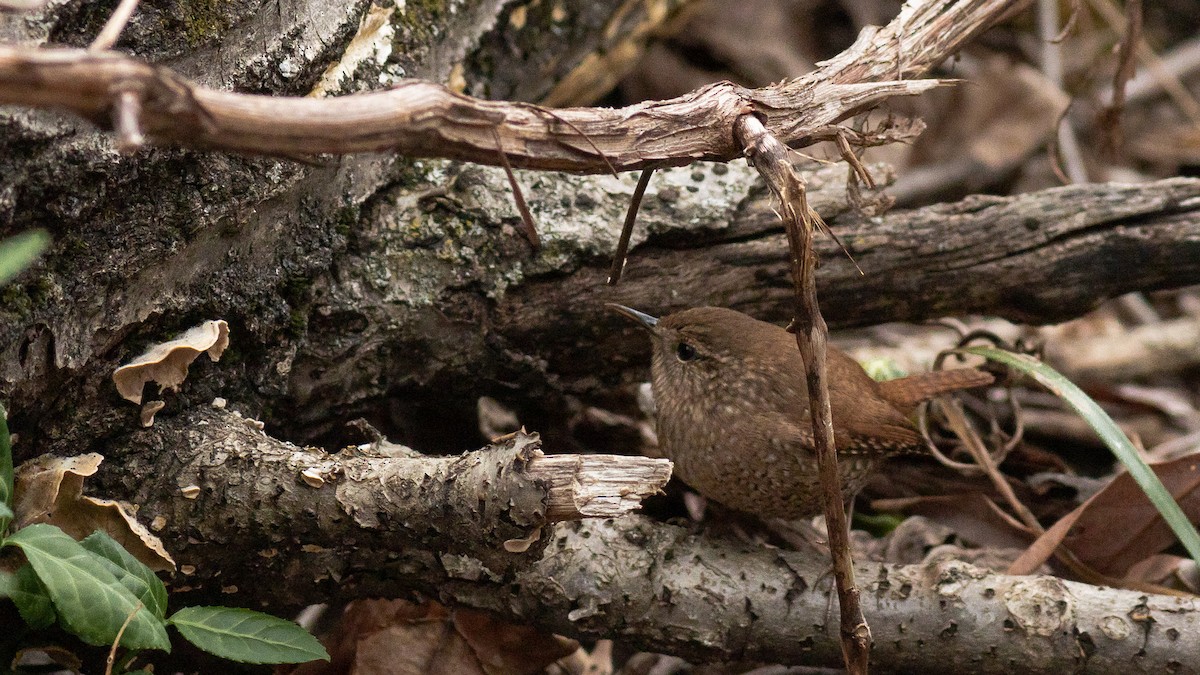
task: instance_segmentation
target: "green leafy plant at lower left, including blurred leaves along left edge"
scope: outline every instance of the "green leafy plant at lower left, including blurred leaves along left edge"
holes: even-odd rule
[[[32,231],[0,243],[0,285],[34,262],[49,243]],[[199,649],[245,663],[329,661],[304,628],[268,614],[228,607],[190,607],[167,616],[167,587],[144,563],[104,532],[82,542],[54,525],[36,524],[10,533],[13,513],[12,442],[0,406],[0,550],[19,549],[25,565],[0,573],[7,597],[31,629],[58,623],[90,645],[114,643],[130,650],[170,651],[167,626]]]

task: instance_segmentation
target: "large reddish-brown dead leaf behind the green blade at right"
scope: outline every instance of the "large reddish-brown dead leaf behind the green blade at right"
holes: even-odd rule
[[[1200,520],[1200,454],[1150,467],[1188,519]],[[1160,552],[1175,540],[1175,533],[1141,488],[1128,473],[1122,473],[1046,530],[1008,573],[1030,574],[1062,544],[1092,569],[1123,577],[1134,563]]]

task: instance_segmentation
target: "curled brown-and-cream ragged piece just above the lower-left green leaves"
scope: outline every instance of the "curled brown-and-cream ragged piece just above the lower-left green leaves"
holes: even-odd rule
[[[76,539],[102,530],[133,557],[155,572],[175,569],[162,540],[138,522],[130,504],[85,497],[84,478],[96,473],[103,455],[41,456],[16,471],[13,512],[17,527],[34,522],[56,525]]]

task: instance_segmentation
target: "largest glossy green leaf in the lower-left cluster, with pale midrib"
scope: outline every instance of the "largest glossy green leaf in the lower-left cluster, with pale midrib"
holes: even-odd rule
[[[30,525],[7,539],[20,546],[37,578],[46,585],[64,627],[91,645],[109,645],[131,614],[121,645],[127,649],[170,651],[162,620],[106,568],[104,558],[88,551],[53,525]],[[134,614],[136,610],[136,614]]]

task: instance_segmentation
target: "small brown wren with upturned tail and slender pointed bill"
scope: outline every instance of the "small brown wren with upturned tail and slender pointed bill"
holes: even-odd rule
[[[721,307],[662,319],[608,307],[649,330],[659,447],[700,494],[763,516],[821,513],[804,362],[796,336]],[[924,447],[908,416],[937,394],[990,384],[976,369],[876,382],[829,346],[829,401],[842,489],[853,495],[883,459]]]

